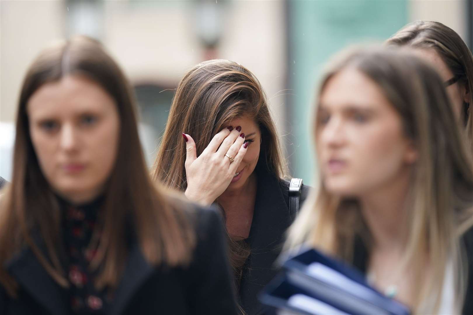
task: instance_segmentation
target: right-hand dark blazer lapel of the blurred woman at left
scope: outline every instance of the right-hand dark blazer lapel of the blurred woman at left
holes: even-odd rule
[[[152,275],[155,268],[146,261],[138,243],[134,242],[128,255],[122,281],[115,292],[111,314],[122,314],[133,294]]]

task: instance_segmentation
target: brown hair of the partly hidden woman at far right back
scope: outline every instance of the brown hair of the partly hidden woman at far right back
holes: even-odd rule
[[[438,53],[454,77],[469,92],[470,102],[463,104],[462,119],[473,150],[473,55],[460,35],[440,22],[415,21],[397,31],[386,44],[432,48]]]

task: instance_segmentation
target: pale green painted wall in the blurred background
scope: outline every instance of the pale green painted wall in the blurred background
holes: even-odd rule
[[[333,53],[353,43],[381,42],[408,21],[406,0],[289,0],[288,132],[291,173],[315,183],[312,122],[315,87]]]

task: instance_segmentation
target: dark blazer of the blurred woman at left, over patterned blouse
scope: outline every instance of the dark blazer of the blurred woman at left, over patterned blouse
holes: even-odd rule
[[[236,314],[219,215],[197,209],[195,226],[197,246],[186,268],[154,267],[145,260],[138,243],[131,243],[111,314]],[[68,314],[67,290],[53,281],[28,247],[5,267],[20,288],[19,298],[11,299],[0,285],[1,315]]]

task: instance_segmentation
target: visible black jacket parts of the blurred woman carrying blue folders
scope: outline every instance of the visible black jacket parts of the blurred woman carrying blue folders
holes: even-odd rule
[[[468,280],[465,301],[462,309],[463,315],[473,315],[473,228],[469,229],[462,237],[462,247],[468,260]],[[355,255],[353,265],[361,272],[367,272],[368,250],[360,238],[355,242]]]

